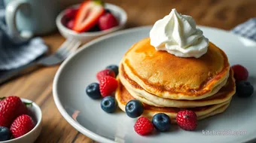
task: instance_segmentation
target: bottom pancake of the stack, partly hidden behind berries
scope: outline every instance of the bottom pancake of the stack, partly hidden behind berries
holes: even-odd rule
[[[118,82],[119,82],[119,86],[115,93],[115,98],[117,99],[119,108],[122,111],[125,111],[126,103],[134,98],[133,98],[133,96],[130,95],[130,93],[126,90],[126,88],[123,87],[123,84],[121,84],[119,80],[118,80]],[[172,119],[172,121],[175,123],[175,117],[177,115],[177,112],[180,110],[188,109],[188,110],[194,111],[197,114],[198,120],[201,120],[203,118],[206,118],[206,117],[209,117],[209,116],[212,116],[214,114],[218,114],[218,113],[224,111],[224,109],[226,109],[228,104],[230,103],[230,100],[228,100],[227,102],[218,104],[218,105],[208,105],[208,106],[196,107],[196,108],[155,107],[155,106],[147,105],[147,104],[143,103],[144,112],[142,115],[145,117],[151,118],[154,116],[154,114],[165,113],[165,114],[169,115],[170,119]],[[225,106],[225,105],[227,105],[227,106]],[[216,111],[216,110],[218,110],[218,111]]]

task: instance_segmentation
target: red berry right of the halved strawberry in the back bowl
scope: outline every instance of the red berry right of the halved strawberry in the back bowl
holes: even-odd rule
[[[118,26],[118,21],[111,13],[105,13],[99,17],[99,28],[102,30],[111,29]]]

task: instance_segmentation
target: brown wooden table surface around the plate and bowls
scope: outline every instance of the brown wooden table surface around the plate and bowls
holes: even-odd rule
[[[127,28],[152,25],[172,8],[203,26],[232,29],[256,17],[255,0],[105,0],[128,14]],[[58,32],[44,36],[53,53],[65,40]],[[36,142],[94,142],[75,130],[53,102],[53,78],[59,66],[40,68],[0,86],[0,96],[20,96],[36,102],[43,112],[43,129]]]

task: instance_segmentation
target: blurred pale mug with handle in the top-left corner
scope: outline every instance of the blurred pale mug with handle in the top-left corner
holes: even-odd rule
[[[56,0],[5,0],[5,20],[12,38],[28,39],[56,29],[62,10]]]

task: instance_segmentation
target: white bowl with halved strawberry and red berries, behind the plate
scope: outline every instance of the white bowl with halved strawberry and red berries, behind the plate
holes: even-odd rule
[[[62,11],[56,18],[56,26],[63,37],[85,43],[123,29],[126,21],[127,15],[122,8],[97,0]]]

